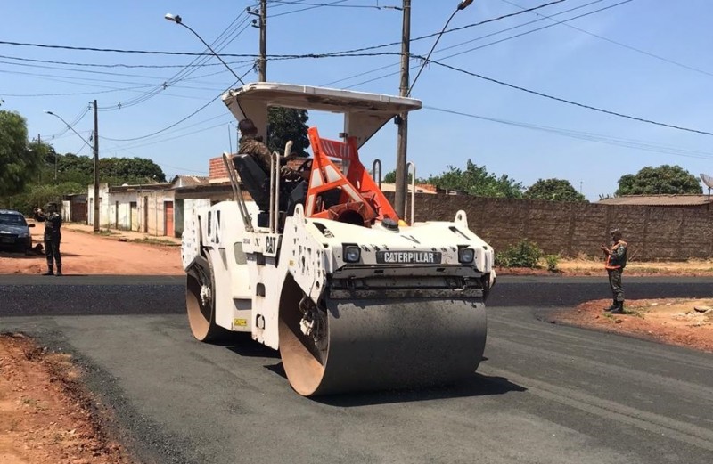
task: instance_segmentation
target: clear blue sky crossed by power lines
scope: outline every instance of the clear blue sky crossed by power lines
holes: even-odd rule
[[[693,132],[713,133],[713,2],[564,0],[522,12],[551,2],[475,0],[455,13],[447,29],[457,30],[443,34],[431,55],[440,64],[426,66],[412,91],[423,102],[409,118],[408,159],[417,176],[464,168],[471,159],[524,187],[566,179],[596,201],[642,167],[713,175],[713,134]],[[213,56],[167,54],[205,46],[164,15],[181,15],[253,82],[259,34],[246,10],[258,3],[4,0],[0,109],[19,112],[29,136],[59,153],[91,155],[78,134],[43,111],[88,140],[96,99],[100,157],[152,159],[168,178],[207,175],[210,158],[235,150],[236,121],[218,96],[236,79]],[[397,95],[402,12],[389,7],[401,4],[268,0],[267,80]],[[412,1],[412,53],[429,53],[436,37],[418,37],[438,33],[457,5]],[[361,52],[368,56],[279,57],[386,44],[396,45]],[[186,68],[192,62],[200,66]],[[411,66],[413,81],[421,61]],[[319,113],[308,124],[332,139],[341,128],[340,119]],[[392,170],[396,140],[396,126],[384,126],[360,150],[365,166],[378,158],[385,173]]]

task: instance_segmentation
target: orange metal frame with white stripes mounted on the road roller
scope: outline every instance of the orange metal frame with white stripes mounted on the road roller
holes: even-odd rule
[[[349,137],[347,142],[323,139],[316,127],[310,127],[307,135],[315,158],[309,175],[305,216],[336,219],[344,211],[351,210],[364,218],[367,227],[376,219],[389,218],[398,222],[389,200],[359,161],[354,137]],[[342,174],[330,158],[348,164],[347,175]],[[326,206],[320,200],[321,195],[333,189],[340,189],[340,200],[336,205]]]

